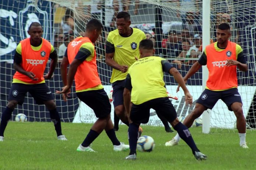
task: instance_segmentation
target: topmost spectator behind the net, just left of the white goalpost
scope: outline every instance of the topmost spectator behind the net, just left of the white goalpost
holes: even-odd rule
[[[184,28],[188,29],[192,36],[194,34],[202,34],[202,27],[194,15],[194,12],[186,12],[186,22],[184,24]]]

